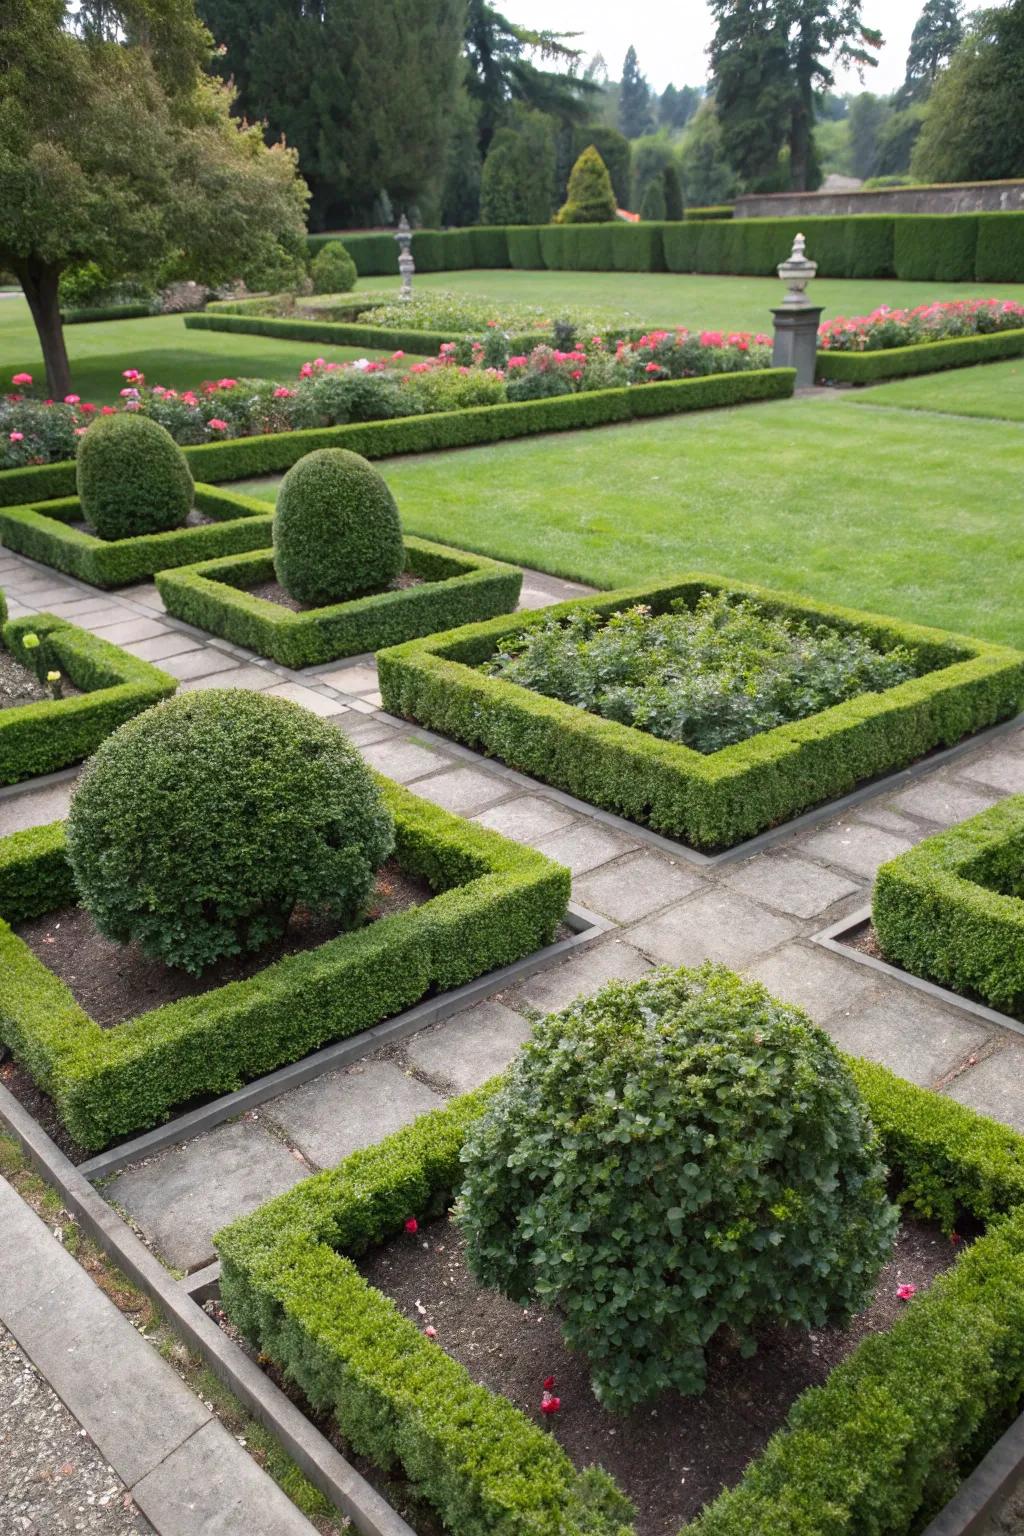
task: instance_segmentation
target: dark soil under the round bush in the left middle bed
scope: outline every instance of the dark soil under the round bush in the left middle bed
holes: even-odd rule
[[[433,895],[425,880],[407,876],[388,859],[370,899],[368,920],[422,906]],[[137,1014],[147,1014],[181,997],[198,997],[229,982],[247,982],[275,960],[315,949],[344,929],[336,919],[298,908],[281,938],[259,949],[227,955],[201,975],[189,975],[147,958],[138,945],[104,938],[81,906],[66,906],[45,917],[18,923],[17,934],[29,949],[71,989],[75,1001],[104,1029]]]

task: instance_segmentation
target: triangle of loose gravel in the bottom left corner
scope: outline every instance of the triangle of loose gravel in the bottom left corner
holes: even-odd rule
[[[3,1536],[152,1536],[86,1432],[0,1324]]]

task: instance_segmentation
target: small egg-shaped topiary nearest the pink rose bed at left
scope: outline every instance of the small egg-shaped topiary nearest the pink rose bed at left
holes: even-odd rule
[[[180,528],[192,510],[192,470],[170,433],[147,416],[100,416],[78,442],[78,499],[101,539]]]

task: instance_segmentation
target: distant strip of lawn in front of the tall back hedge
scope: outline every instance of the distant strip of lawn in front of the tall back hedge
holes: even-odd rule
[[[781,252],[781,261],[788,252]],[[814,252],[811,250],[812,257]],[[772,304],[785,289],[777,278],[682,276],[671,272],[428,272],[416,289],[450,289],[524,304],[600,304],[623,310],[639,326],[689,326],[705,330],[771,330]],[[364,278],[358,289],[396,289],[398,278]],[[356,292],[358,292],[356,289]],[[912,309],[936,298],[1018,298],[1024,284],[897,283],[823,278],[811,298],[823,318],[869,315],[880,304]]]

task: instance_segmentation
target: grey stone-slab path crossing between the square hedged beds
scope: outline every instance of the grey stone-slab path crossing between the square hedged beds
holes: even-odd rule
[[[614,925],[510,992],[114,1175],[107,1198],[177,1269],[207,1264],[210,1235],[226,1221],[499,1071],[525,1038],[531,1009],[559,1008],[659,963],[725,962],[806,1008],[844,1051],[1024,1130],[1021,1035],[811,942],[867,902],[881,862],[1024,791],[1024,730],[749,859],[703,868],[382,716],[372,659],[290,673],[169,619],[152,585],[95,593],[3,550],[0,587],[12,613],[64,614],[158,662],[183,688],[266,688],[309,705],[375,768],[567,863],[574,900]],[[583,590],[530,571],[524,604]],[[61,816],[71,788],[72,779],[55,776],[0,793],[0,834]]]

